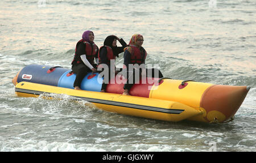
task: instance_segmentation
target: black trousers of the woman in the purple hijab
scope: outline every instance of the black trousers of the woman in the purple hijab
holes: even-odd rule
[[[94,63],[92,65],[94,68],[97,68],[97,65]],[[89,67],[85,66],[84,64],[80,63],[77,65],[72,65],[72,71],[76,74],[76,79],[74,81],[73,87],[80,87],[82,79],[88,74],[88,72],[92,72]]]

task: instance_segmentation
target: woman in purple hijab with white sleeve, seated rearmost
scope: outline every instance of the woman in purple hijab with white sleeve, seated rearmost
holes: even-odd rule
[[[98,46],[94,44],[94,33],[92,31],[85,31],[82,33],[82,39],[76,44],[75,56],[72,61],[72,71],[76,74],[73,87],[81,89],[82,79],[88,72],[96,72]],[[96,58],[96,63],[94,63]]]

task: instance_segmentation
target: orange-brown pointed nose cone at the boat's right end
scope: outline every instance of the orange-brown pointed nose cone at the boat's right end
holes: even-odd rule
[[[207,121],[223,122],[232,118],[240,108],[249,86],[213,85],[201,98],[200,106],[207,112]]]

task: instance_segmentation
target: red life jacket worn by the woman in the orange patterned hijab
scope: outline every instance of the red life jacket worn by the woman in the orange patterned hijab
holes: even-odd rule
[[[134,64],[138,64],[138,65],[141,65],[142,63],[145,62],[145,59],[147,57],[147,52],[146,50],[142,48],[142,52],[141,50],[135,46],[135,45],[130,45],[131,47],[131,63],[134,65]]]

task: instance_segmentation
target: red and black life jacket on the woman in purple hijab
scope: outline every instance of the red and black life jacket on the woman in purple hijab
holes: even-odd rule
[[[86,59],[90,62],[92,65],[94,63],[94,58],[98,50],[98,46],[96,44],[90,44],[90,42],[84,41],[84,40],[79,40],[76,44],[76,49],[80,44],[85,44],[85,53],[86,53]],[[75,57],[72,61],[72,65],[75,63],[83,63],[80,55],[76,54],[75,50]]]

